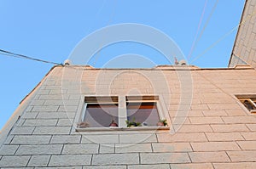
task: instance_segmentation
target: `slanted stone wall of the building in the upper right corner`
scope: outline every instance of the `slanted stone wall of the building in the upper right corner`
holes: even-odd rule
[[[252,65],[256,68],[256,1],[247,0],[230,57],[229,67]]]

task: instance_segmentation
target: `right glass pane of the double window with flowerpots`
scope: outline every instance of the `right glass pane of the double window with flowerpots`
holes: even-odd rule
[[[160,120],[155,103],[128,103],[127,119],[155,127]]]

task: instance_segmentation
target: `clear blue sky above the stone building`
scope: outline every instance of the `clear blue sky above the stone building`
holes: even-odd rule
[[[239,24],[243,5],[244,0],[219,0],[218,3],[215,0],[0,0],[0,48],[61,63],[91,32],[107,25],[137,23],[165,32],[185,56],[189,55],[198,32],[198,42],[191,57],[187,58],[189,64],[227,67],[237,30],[228,33]],[[209,48],[221,37],[224,37],[222,41]],[[102,55],[108,55],[111,59],[117,54],[130,53],[157,55],[152,48],[124,42],[105,48],[97,56],[96,62],[91,61],[90,64],[101,67],[104,65]],[[154,62],[166,64],[164,59],[159,58]],[[41,81],[52,65],[3,55],[0,55],[0,63],[2,128],[20,101]]]

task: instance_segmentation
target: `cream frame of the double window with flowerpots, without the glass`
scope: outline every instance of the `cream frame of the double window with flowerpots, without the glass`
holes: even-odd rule
[[[86,97],[91,97],[91,98],[98,98],[99,96],[85,96]],[[100,97],[105,97],[105,96],[100,96]],[[107,96],[108,98],[110,96]],[[116,97],[116,96],[113,96]],[[104,100],[104,99],[103,99]],[[170,126],[170,121],[165,117],[163,114],[163,109],[160,106],[160,100],[158,96],[118,96],[118,101],[117,102],[109,102],[109,101],[99,101],[99,102],[86,102],[84,99],[84,104],[82,108],[82,112],[80,113],[80,118],[79,122],[84,121],[85,117],[85,112],[88,104],[118,104],[118,115],[119,115],[119,127],[75,127],[75,131],[77,132],[93,132],[93,131],[123,131],[123,130],[169,130],[170,127],[127,127],[125,121],[127,120],[127,108],[126,108],[126,103],[155,103],[156,104],[156,109],[158,111],[158,115],[160,117],[160,120],[166,119],[167,124]]]

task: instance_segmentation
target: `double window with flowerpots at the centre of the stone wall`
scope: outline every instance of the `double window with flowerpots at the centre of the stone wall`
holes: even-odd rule
[[[165,119],[158,103],[156,96],[85,97],[77,129],[158,127]]]

